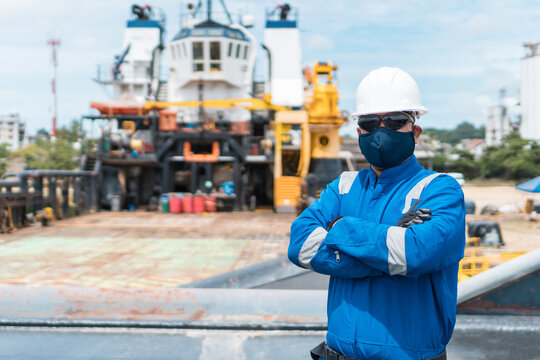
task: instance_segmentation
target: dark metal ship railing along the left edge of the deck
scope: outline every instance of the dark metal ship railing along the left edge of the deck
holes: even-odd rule
[[[95,212],[98,191],[98,171],[26,170],[6,174],[0,180],[0,231],[28,225],[47,207],[55,219]]]

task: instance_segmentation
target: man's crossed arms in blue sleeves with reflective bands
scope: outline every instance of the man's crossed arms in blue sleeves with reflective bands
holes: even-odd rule
[[[289,259],[298,266],[342,278],[401,275],[416,277],[458,262],[465,243],[465,210],[461,188],[440,176],[424,190],[422,208],[431,219],[408,227],[338,217],[338,180],[291,226]]]

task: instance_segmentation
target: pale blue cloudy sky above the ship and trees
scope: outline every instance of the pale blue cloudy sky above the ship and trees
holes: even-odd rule
[[[195,2],[195,1],[194,1]],[[251,13],[262,41],[264,11],[276,1],[225,0],[233,14]],[[90,112],[108,93],[92,79],[98,64],[121,52],[133,0],[0,0],[0,114],[19,113],[29,133],[50,128],[50,48],[59,38],[57,126]],[[148,0],[167,15],[166,39],[180,28],[188,1]],[[485,124],[499,90],[519,99],[524,42],[539,42],[539,1],[291,0],[298,8],[303,63],[339,66],[341,109],[354,111],[360,80],[381,66],[397,66],[417,81],[428,114],[424,127]],[[219,1],[214,8],[221,10]],[[258,56],[264,51],[259,46]],[[164,58],[167,59],[167,54]],[[264,61],[257,62],[262,77]],[[168,74],[162,63],[162,77]]]

